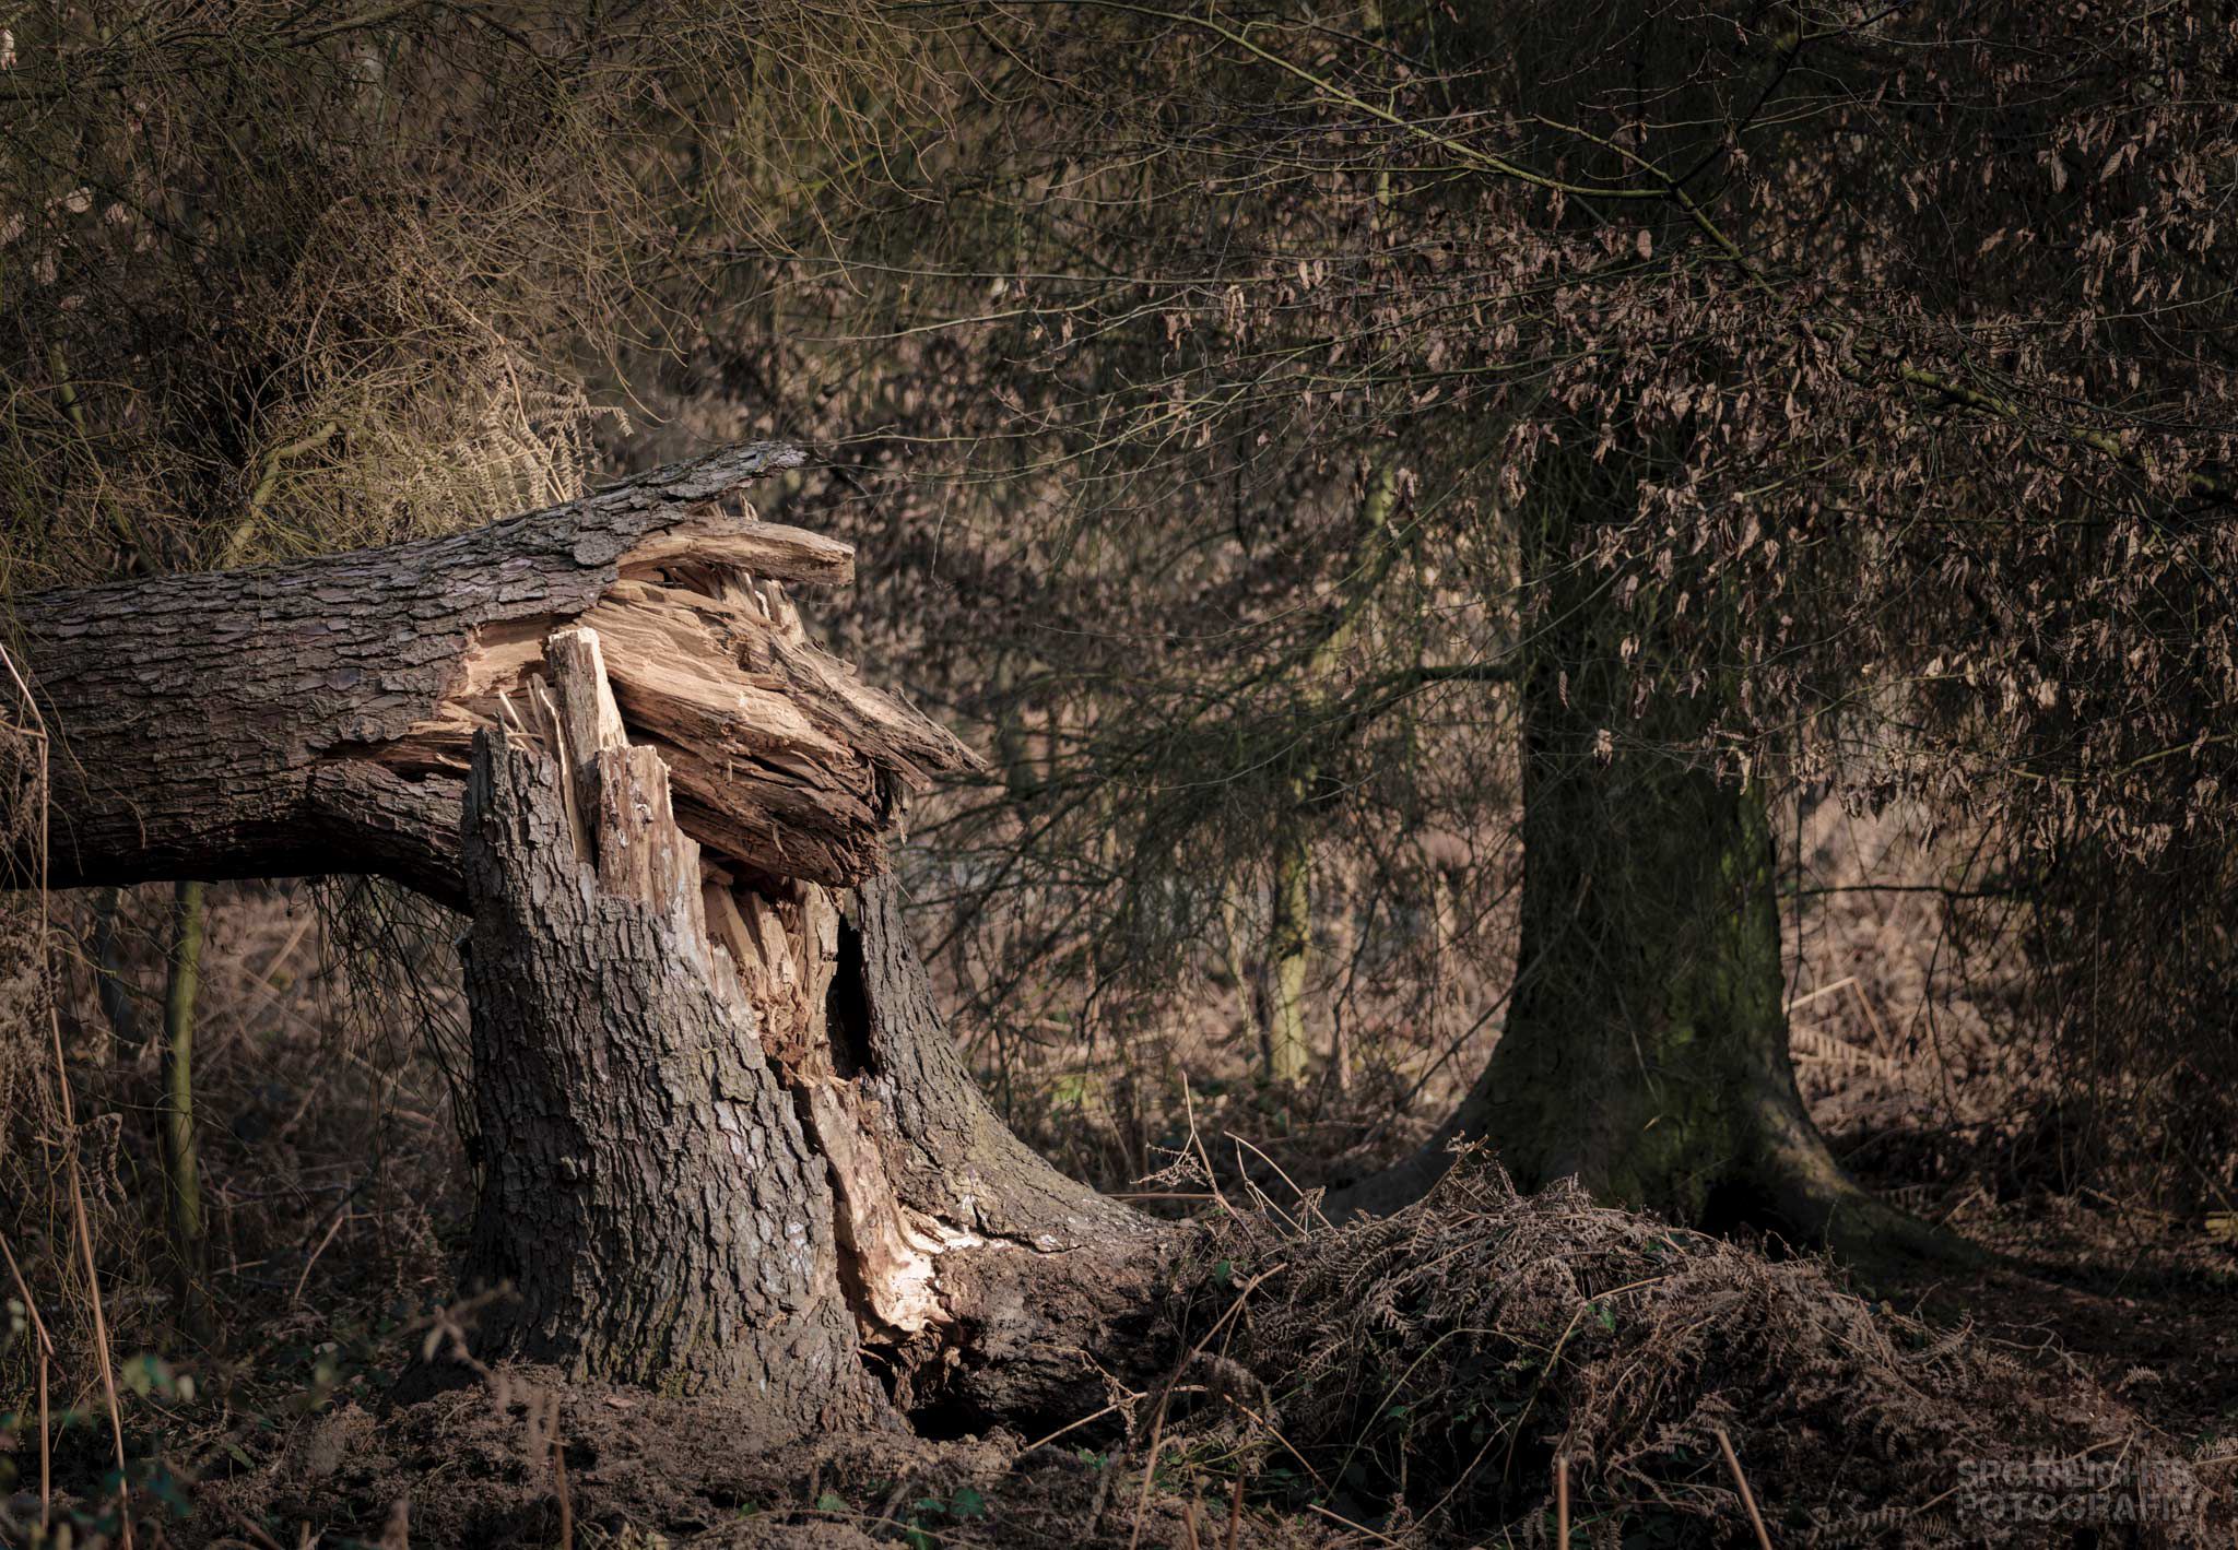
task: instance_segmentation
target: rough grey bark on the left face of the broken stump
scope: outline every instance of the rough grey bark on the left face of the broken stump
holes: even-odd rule
[[[477,747],[466,881],[486,1163],[461,1279],[515,1288],[483,1349],[743,1391],[781,1431],[871,1418],[821,1159],[674,895],[606,886],[560,763],[506,731]]]

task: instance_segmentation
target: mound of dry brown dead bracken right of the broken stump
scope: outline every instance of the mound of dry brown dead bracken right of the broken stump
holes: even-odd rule
[[[1238,1293],[1209,1351],[1264,1393],[1256,1416],[1204,1407],[1186,1445],[1278,1436],[1338,1510],[1385,1521],[1397,1499],[1383,1532],[1529,1541],[1558,1458],[1596,1546],[1732,1543],[1743,1478],[1781,1546],[2043,1546],[2090,1525],[2193,1546],[2229,1512],[2229,1461],[2195,1467],[2088,1380],[1873,1306],[1826,1264],[1571,1188],[1526,1199],[1491,1165],[1397,1217],[1233,1215],[1215,1241]]]

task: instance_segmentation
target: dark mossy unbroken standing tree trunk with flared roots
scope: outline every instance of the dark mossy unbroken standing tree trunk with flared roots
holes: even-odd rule
[[[1336,1206],[1392,1210],[1435,1183],[1457,1138],[1484,1138],[1524,1190],[1576,1176],[1611,1203],[1768,1223],[1855,1259],[1947,1255],[1842,1172],[1797,1094],[1764,792],[1701,752],[1721,684],[1656,680],[1703,655],[1685,631],[1717,631],[1714,582],[1696,584],[1710,602],[1692,620],[1658,588],[1620,608],[1578,537],[1591,501],[1629,492],[1609,472],[1580,483],[1542,494],[1526,526],[1535,617],[1506,1029],[1437,1136]]]

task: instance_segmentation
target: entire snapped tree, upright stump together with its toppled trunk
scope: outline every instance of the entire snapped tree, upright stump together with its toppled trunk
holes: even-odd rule
[[[792,461],[20,602],[49,881],[372,870],[472,915],[479,1355],[750,1398],[772,1436],[1070,1418],[1085,1351],[1144,1346],[1168,1237],[947,1038],[880,875],[969,756],[808,644],[779,582],[850,550],[725,510]]]

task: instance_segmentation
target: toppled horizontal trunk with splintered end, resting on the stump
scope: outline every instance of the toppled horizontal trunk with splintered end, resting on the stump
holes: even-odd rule
[[[18,599],[54,736],[49,881],[354,870],[459,904],[470,738],[591,613],[687,830],[745,868],[875,872],[897,792],[962,749],[772,642],[772,582],[853,575],[844,544],[727,510],[794,463],[734,447],[457,537]]]

